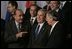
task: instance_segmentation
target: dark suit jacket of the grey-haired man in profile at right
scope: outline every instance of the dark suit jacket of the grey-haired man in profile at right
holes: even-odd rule
[[[58,22],[48,38],[47,48],[62,48],[64,42],[62,25]]]

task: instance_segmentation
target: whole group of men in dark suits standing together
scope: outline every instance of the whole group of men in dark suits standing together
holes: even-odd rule
[[[8,2],[6,19],[1,19],[1,47],[70,48],[71,2],[46,1],[43,8],[30,2],[25,13],[16,1]]]

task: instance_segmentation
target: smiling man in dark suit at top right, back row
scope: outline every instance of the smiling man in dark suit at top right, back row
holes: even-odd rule
[[[57,17],[60,21],[62,19],[62,16],[60,16],[61,15],[61,9],[59,8],[60,7],[60,1],[49,1],[48,6],[50,7],[50,9],[48,11],[55,10],[57,12]]]

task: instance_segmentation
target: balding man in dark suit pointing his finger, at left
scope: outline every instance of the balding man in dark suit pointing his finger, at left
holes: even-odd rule
[[[12,20],[5,26],[5,42],[8,48],[25,48],[28,44],[29,26],[23,21],[23,12],[17,9]]]

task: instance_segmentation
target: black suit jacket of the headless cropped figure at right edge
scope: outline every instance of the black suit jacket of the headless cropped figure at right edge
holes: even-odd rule
[[[66,2],[61,10],[61,14],[64,17],[62,23],[66,32],[71,33],[71,2]]]

